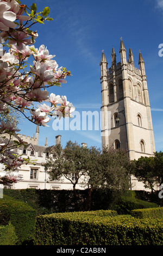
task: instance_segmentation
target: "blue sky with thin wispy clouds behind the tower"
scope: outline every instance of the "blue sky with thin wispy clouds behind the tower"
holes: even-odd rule
[[[32,5],[28,0],[23,4]],[[163,44],[163,0],[36,0],[37,10],[48,6],[53,21],[37,25],[39,34],[35,47],[44,44],[50,54],[55,54],[59,66],[71,71],[72,76],[62,87],[54,87],[50,93],[66,95],[76,111],[100,111],[101,83],[100,60],[104,50],[111,65],[111,50],[115,48],[120,62],[120,38],[128,51],[134,54],[139,68],[139,50],[145,60],[149,99],[151,103],[156,151],[162,150],[163,135],[163,57],[159,57],[159,45]],[[66,142],[77,141],[101,147],[101,131],[56,131],[53,119],[49,127],[40,127],[39,144],[55,144],[55,136]],[[75,126],[75,124],[74,124]],[[19,125],[21,134],[33,136],[36,126],[27,121]]]

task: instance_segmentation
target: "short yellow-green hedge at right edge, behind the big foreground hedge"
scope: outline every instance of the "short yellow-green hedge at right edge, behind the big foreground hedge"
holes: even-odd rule
[[[163,207],[137,209],[131,211],[131,216],[135,218],[161,218],[163,219]]]

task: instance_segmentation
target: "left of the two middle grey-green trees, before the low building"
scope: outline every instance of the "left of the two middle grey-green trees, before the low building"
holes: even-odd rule
[[[55,145],[49,152],[45,164],[49,178],[62,180],[64,177],[71,182],[73,190],[76,191],[79,179],[87,176],[87,152],[87,148],[80,147],[77,142],[68,141],[64,149],[60,144]]]

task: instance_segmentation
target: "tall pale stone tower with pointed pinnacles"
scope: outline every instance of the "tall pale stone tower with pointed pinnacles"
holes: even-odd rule
[[[109,147],[122,148],[128,152],[130,160],[141,156],[153,156],[155,143],[142,54],[139,53],[139,69],[137,69],[131,48],[127,60],[126,48],[121,40],[120,57],[121,62],[116,63],[116,53],[112,48],[111,66],[108,69],[105,54],[102,53],[101,112],[102,123],[105,124],[102,128],[102,147],[109,145]],[[108,126],[106,126],[107,122],[110,122]],[[110,127],[108,133],[105,127]]]

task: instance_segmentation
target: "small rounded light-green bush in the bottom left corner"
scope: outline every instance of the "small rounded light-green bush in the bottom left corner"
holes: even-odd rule
[[[17,235],[15,227],[10,222],[8,225],[0,226],[0,245],[16,245]]]

